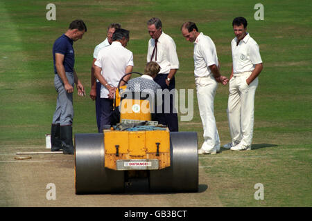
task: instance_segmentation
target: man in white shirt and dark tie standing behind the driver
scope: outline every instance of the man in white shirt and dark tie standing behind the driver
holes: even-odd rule
[[[148,41],[147,62],[155,61],[161,68],[154,81],[162,87],[162,90],[168,89],[171,91],[175,89],[175,73],[179,69],[175,42],[162,31],[162,21],[160,19],[152,18],[148,20],[147,26],[151,37]],[[166,90],[164,90],[164,93],[166,93]],[[157,120],[159,124],[167,125],[170,131],[178,131],[173,94],[170,94],[170,99],[165,99],[167,96],[163,95],[162,113],[157,113]],[[169,105],[165,104],[165,102],[169,102]],[[168,106],[169,108],[167,108]]]

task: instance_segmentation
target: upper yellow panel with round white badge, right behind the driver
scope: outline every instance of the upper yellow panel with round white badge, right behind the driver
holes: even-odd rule
[[[148,100],[123,99],[121,102],[121,119],[151,120]]]

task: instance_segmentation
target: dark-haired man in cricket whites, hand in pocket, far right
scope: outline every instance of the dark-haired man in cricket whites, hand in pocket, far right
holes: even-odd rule
[[[246,19],[236,17],[232,26],[236,37],[231,42],[233,64],[227,104],[232,142],[223,147],[243,151],[252,146],[254,95],[263,65],[257,42],[246,32]]]

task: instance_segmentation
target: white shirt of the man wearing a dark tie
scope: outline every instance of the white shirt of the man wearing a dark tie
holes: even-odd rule
[[[155,39],[148,41],[147,61],[150,62],[155,47]],[[155,61],[155,55],[153,60]],[[179,69],[179,59],[177,59],[177,50],[175,41],[162,32],[157,41],[157,64],[160,66],[159,74],[168,74],[170,69]]]

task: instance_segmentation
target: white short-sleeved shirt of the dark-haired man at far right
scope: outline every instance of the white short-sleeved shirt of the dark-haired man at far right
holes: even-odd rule
[[[236,44],[237,38],[235,37],[231,42],[234,75],[252,71],[256,64],[262,63],[259,46],[248,33],[239,41],[239,45],[236,46]]]

